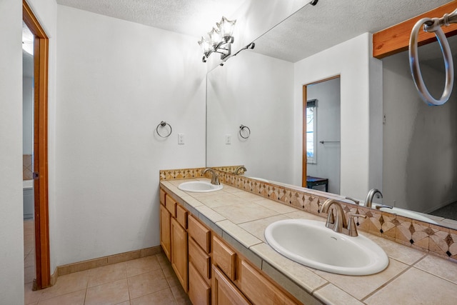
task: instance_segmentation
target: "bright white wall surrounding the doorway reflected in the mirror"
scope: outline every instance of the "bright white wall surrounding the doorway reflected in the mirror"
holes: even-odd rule
[[[363,199],[369,189],[371,168],[370,105],[382,104],[382,95],[370,91],[380,83],[381,74],[371,74],[369,67],[378,66],[371,57],[371,34],[362,34],[342,44],[298,61],[295,64],[295,169],[301,169],[302,158],[302,86],[330,76],[341,75],[341,194]],[[381,141],[379,141],[381,143]],[[379,176],[379,174],[378,174]],[[295,184],[301,181],[301,171],[295,172]]]

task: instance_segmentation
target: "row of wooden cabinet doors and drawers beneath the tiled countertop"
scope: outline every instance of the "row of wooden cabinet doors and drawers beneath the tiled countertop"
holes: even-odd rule
[[[299,303],[162,189],[160,201],[161,246],[192,304]]]

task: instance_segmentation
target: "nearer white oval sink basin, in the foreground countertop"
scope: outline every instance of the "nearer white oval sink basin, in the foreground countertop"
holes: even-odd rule
[[[266,227],[265,238],[288,259],[335,274],[376,274],[388,266],[386,252],[373,241],[336,233],[321,221],[276,221]]]

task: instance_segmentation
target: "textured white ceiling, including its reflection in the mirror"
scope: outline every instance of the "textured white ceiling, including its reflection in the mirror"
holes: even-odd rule
[[[245,1],[261,0],[56,0],[58,4],[181,34],[200,36]],[[268,0],[265,5],[268,5]],[[310,0],[311,1],[311,0]],[[449,0],[319,0],[256,40],[256,50],[296,62],[365,32],[376,32]],[[273,14],[273,11],[272,11]],[[435,16],[432,16],[435,17]]]

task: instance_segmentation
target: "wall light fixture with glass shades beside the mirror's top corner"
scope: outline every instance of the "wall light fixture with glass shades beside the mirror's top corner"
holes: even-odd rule
[[[221,22],[216,22],[216,28],[213,28],[209,33],[209,40],[206,40],[203,36],[199,45],[204,53],[203,62],[212,53],[221,54],[221,59],[226,59],[231,54],[231,44],[233,44],[233,27],[235,26],[236,20],[230,21],[226,17],[222,16]]]

